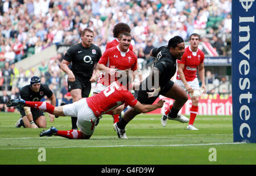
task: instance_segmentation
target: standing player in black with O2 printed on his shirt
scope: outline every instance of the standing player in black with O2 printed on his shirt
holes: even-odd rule
[[[93,70],[102,54],[101,49],[92,43],[93,37],[93,31],[85,28],[81,33],[81,43],[72,45],[60,64],[60,68],[68,74],[68,91],[73,102],[89,97],[91,83],[96,81]],[[72,66],[69,69],[68,65],[71,62]],[[71,120],[72,129],[77,129],[77,118],[71,117]]]

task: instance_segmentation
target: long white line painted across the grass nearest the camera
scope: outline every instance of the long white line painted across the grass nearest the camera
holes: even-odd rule
[[[202,145],[233,145],[246,143],[209,143],[209,144],[172,144],[172,145],[106,145],[106,146],[50,146],[46,149],[64,149],[64,148],[110,148],[110,147],[125,147],[125,146],[202,146]],[[18,149],[38,149],[38,147],[28,148],[0,148],[0,150],[18,150]]]

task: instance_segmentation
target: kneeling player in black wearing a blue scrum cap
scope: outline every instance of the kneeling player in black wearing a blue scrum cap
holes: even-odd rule
[[[49,89],[47,85],[40,83],[39,77],[32,77],[30,85],[22,87],[20,90],[20,98],[38,102],[44,96],[47,96],[51,100],[52,106],[56,106],[56,97]],[[34,108],[28,107],[18,107],[22,118],[16,123],[16,127],[21,125],[25,128],[46,128],[46,116],[44,116],[43,111],[36,110]],[[50,115],[51,121],[54,120],[54,116]]]

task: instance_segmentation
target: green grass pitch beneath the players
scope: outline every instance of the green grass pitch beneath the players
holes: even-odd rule
[[[43,129],[15,128],[16,113],[0,113],[0,165],[254,165],[256,144],[233,143],[232,116],[197,116],[199,131],[160,115],[139,115],[127,125],[128,140],[118,139],[113,118],[104,116],[90,140],[39,137]],[[71,129],[71,118],[60,117],[47,128]],[[38,161],[39,148],[46,161]],[[217,161],[209,161],[210,148]]]

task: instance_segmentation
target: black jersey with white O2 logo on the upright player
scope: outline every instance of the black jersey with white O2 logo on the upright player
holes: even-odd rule
[[[94,44],[85,48],[81,43],[72,45],[65,53],[64,60],[72,62],[71,70],[75,76],[90,79],[94,65],[101,58],[101,49]]]

